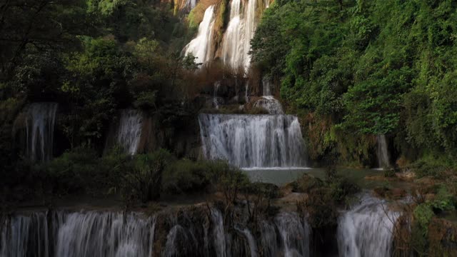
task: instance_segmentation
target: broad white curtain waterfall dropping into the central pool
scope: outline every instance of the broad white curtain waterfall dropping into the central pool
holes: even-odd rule
[[[306,165],[296,116],[200,114],[199,124],[207,159],[225,159],[241,168]]]

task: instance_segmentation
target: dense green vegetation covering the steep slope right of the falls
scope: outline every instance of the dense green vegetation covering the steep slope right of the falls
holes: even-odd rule
[[[253,60],[302,113],[310,153],[367,165],[373,135],[403,161],[452,166],[457,150],[456,1],[275,1]],[[309,124],[309,126],[308,126]]]

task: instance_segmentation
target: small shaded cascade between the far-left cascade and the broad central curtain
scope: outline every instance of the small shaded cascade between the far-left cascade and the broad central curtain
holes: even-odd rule
[[[143,115],[141,111],[126,109],[121,111],[119,128],[116,133],[116,142],[124,148],[126,153],[135,154],[141,139]]]

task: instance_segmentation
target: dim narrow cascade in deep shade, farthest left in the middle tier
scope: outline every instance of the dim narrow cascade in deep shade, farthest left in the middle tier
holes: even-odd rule
[[[49,161],[54,148],[56,103],[33,103],[26,107],[26,156],[31,161]]]

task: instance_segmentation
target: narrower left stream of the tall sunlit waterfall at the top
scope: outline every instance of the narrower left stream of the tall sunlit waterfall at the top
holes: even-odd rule
[[[186,56],[193,54],[196,57],[197,63],[205,63],[211,61],[211,45],[213,39],[213,26],[214,26],[214,6],[209,6],[206,9],[203,21],[199,25],[199,33],[195,39],[184,47]]]

